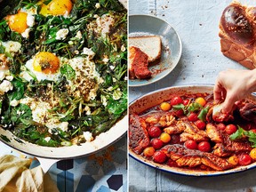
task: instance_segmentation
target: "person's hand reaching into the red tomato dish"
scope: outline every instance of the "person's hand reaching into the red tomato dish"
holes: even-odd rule
[[[232,111],[237,100],[243,100],[256,90],[256,69],[221,71],[213,88],[215,101],[224,100],[222,113]]]

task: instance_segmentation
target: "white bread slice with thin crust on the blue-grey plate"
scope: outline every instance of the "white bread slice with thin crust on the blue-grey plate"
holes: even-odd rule
[[[162,42],[160,36],[132,36],[129,37],[129,46],[140,48],[148,55],[148,62],[161,58]]]

